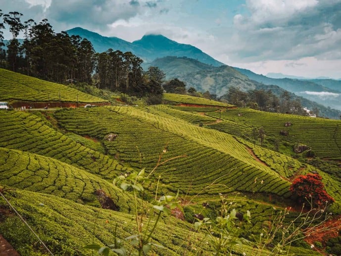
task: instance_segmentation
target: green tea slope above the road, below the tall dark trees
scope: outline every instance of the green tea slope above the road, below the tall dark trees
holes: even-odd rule
[[[65,85],[51,83],[0,68],[0,101],[107,102]]]

